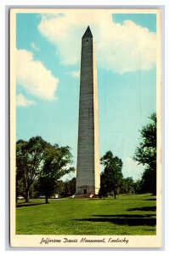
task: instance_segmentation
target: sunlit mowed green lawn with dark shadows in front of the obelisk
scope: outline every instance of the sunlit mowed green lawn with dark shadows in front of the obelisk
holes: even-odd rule
[[[18,235],[156,235],[156,197],[19,201]]]

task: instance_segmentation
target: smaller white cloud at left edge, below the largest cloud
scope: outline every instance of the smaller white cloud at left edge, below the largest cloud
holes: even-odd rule
[[[43,66],[41,61],[34,60],[26,49],[16,50],[16,79],[28,93],[45,100],[54,100],[59,79]]]

